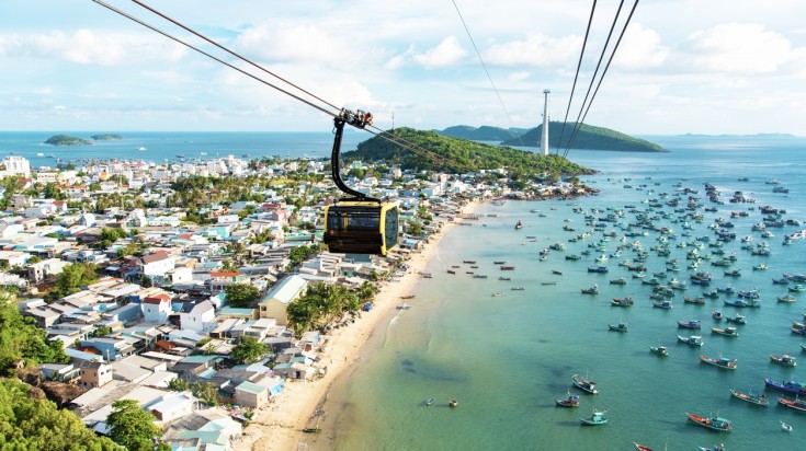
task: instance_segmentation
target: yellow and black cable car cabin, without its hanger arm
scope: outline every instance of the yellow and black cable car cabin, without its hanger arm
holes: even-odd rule
[[[343,254],[386,253],[397,245],[397,204],[340,201],[325,208],[325,244]]]

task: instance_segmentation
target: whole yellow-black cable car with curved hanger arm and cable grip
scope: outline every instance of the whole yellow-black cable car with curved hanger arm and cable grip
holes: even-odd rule
[[[323,242],[329,252],[342,254],[386,253],[397,245],[399,209],[397,203],[384,203],[356,192],[344,184],[339,173],[339,152],[344,125],[364,128],[372,125],[372,114],[342,109],[333,117],[333,151],[331,172],[333,183],[350,197],[339,199],[325,208]]]

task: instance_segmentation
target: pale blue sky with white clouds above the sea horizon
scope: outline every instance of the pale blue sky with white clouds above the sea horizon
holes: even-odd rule
[[[639,2],[594,97],[634,0],[608,47],[620,2],[595,2],[581,63],[592,0],[145,0],[280,79],[105,1],[286,93],[92,0],[0,0],[0,130],[330,131],[341,107],[532,128],[549,90],[550,120],[590,92],[584,123],[629,135],[806,136],[803,0]]]

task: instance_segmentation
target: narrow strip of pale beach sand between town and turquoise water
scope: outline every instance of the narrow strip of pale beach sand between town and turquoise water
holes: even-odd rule
[[[468,203],[462,208],[463,213],[473,213],[478,203]],[[336,329],[322,336],[321,358],[327,365],[327,373],[310,382],[286,382],[283,393],[275,396],[266,407],[256,410],[253,420],[243,430],[234,449],[253,451],[296,450],[305,436],[303,429],[316,427],[318,410],[327,400],[333,382],[344,370],[354,368],[360,360],[362,345],[382,324],[394,316],[397,305],[402,303],[401,297],[417,291],[420,273],[423,271],[436,252],[439,241],[456,226],[456,221],[446,222],[440,232],[428,243],[424,250],[411,254],[407,262],[406,275],[399,281],[385,282],[376,298],[375,307],[370,312],[361,312],[361,316],[347,327]]]

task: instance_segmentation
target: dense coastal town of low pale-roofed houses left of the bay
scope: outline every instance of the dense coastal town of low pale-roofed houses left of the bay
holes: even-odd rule
[[[406,298],[446,227],[472,224],[485,199],[584,193],[570,183],[513,190],[506,169],[451,175],[355,161],[351,186],[397,203],[401,228],[387,255],[345,255],[321,244],[322,211],[338,200],[326,161],[0,164],[4,304],[64,351],[3,371],[101,436],[116,402],[135,400],[159,431],[150,439],[172,450],[245,449],[259,437],[272,449],[271,426],[303,432],[327,390],[304,386],[352,363],[333,343],[348,334],[360,346],[366,317]],[[295,303],[311,292],[349,302],[306,317]]]

